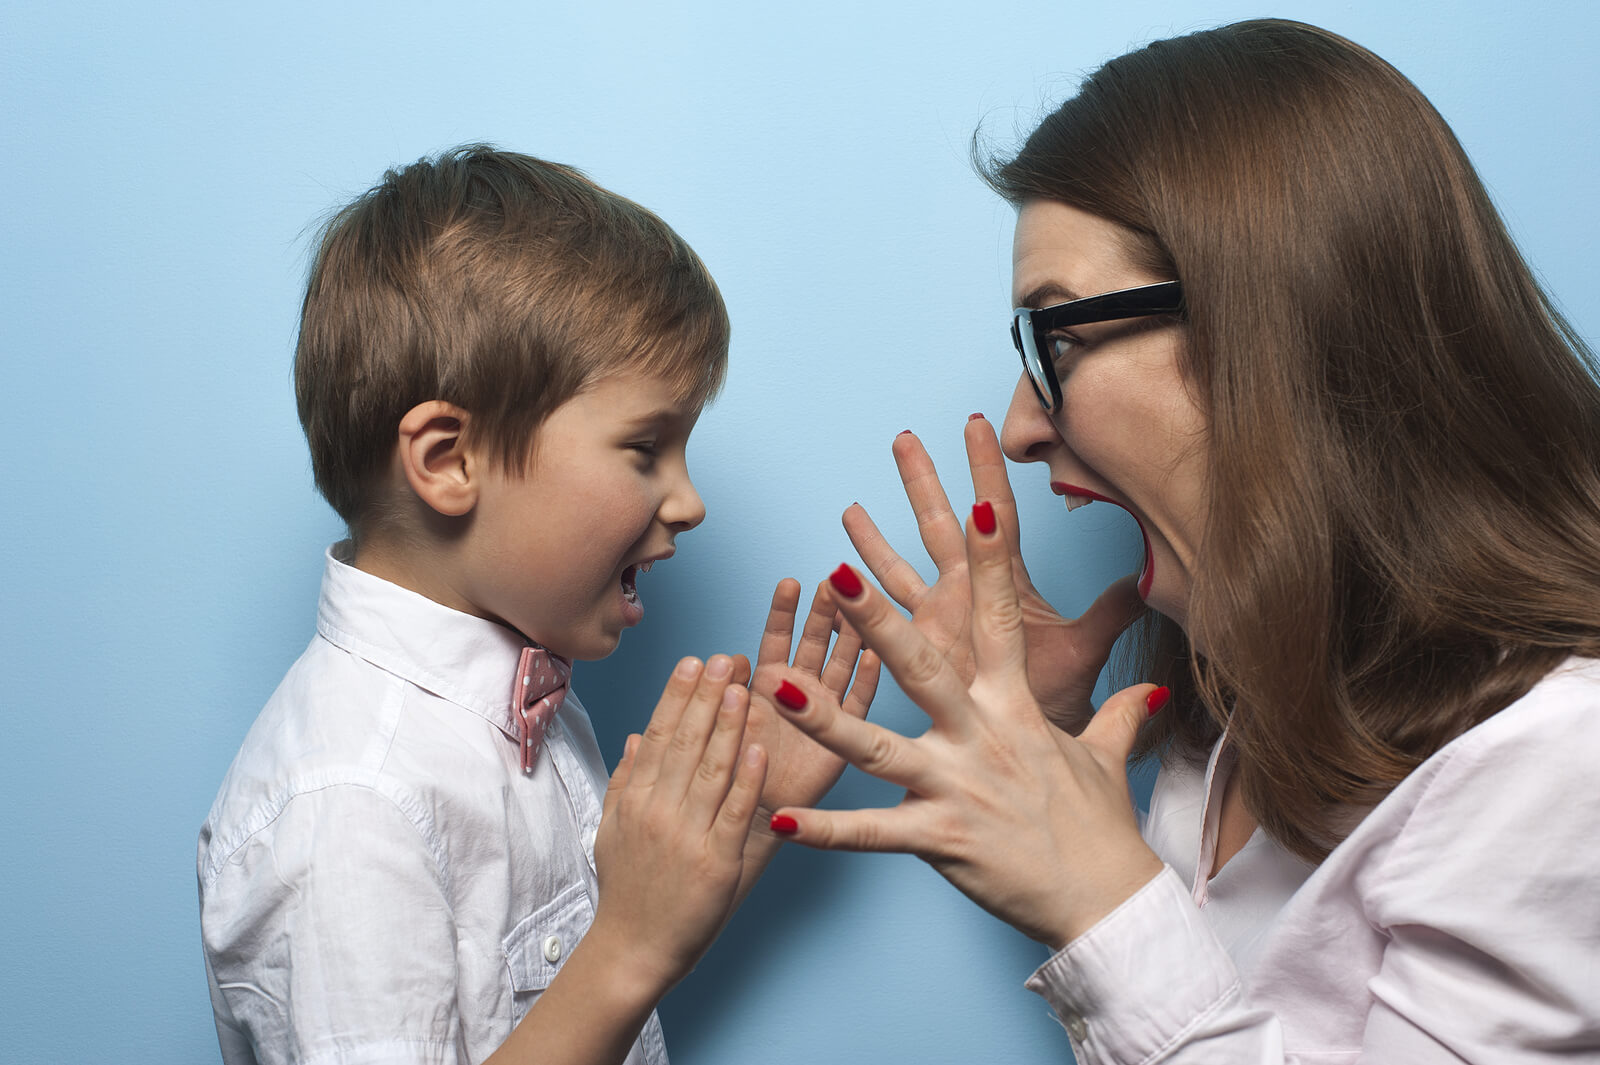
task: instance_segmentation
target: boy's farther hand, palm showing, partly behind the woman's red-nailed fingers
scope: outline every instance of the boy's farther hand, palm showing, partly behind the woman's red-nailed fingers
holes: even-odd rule
[[[779,580],[773,592],[771,611],[766,614],[762,644],[755,652],[746,737],[766,752],[768,771],[754,828],[755,838],[744,856],[741,897],[778,849],[778,840],[768,827],[771,812],[779,806],[813,806],[845,771],[842,758],[797,729],[773,707],[766,694],[757,694],[771,692],[778,686],[778,672],[790,664],[789,652],[798,606],[800,582],[787,577]],[[878,656],[861,649],[861,636],[842,620],[826,582],[818,585],[816,595],[811,596],[811,612],[806,614],[800,630],[800,644],[794,648],[794,668],[834,692],[845,713],[856,718],[867,716],[867,707],[872,705],[872,696],[878,689]]]

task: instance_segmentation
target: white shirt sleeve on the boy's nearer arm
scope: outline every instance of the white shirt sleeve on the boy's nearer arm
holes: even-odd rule
[[[306,792],[202,884],[206,959],[261,1065],[456,1065],[456,927],[418,825],[370,787]]]

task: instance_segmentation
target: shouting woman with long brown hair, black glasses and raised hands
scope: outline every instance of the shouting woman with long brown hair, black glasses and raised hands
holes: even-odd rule
[[[774,830],[918,854],[1050,945],[1027,985],[1080,1062],[1600,1060],[1600,387],[1448,126],[1350,42],[1242,22],[1112,61],[987,178],[1005,454],[1146,561],[1059,619],[987,422],[965,531],[902,437],[939,580],[851,510],[912,620],[834,590],[931,728],[790,676],[907,798]],[[1134,596],[1158,686],[1074,739]],[[1130,752],[1163,760],[1142,836]]]

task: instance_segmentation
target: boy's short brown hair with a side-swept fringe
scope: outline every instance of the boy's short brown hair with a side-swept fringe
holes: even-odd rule
[[[360,536],[400,419],[443,400],[510,472],[557,406],[648,368],[704,403],[728,312],[659,217],[579,171],[474,144],[390,170],[323,227],[294,397],[317,488]]]

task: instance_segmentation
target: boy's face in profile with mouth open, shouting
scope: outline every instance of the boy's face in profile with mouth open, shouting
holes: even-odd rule
[[[478,612],[574,659],[616,649],[645,616],[640,566],[706,517],[685,454],[698,419],[662,379],[624,373],[555,408],[523,475],[488,464],[466,574]]]

